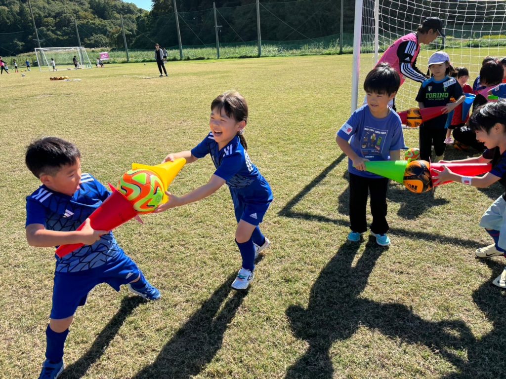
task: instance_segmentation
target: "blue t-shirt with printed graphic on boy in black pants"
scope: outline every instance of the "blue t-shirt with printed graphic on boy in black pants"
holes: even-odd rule
[[[339,129],[338,136],[349,140],[353,151],[359,157],[367,158],[369,161],[388,161],[391,151],[404,148],[399,115],[390,109],[387,117],[376,118],[371,114],[367,104],[353,112],[348,121]],[[348,171],[368,178],[382,177],[357,170],[353,167],[351,159],[348,159]]]

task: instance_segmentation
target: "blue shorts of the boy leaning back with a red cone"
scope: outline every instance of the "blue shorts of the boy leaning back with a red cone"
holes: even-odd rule
[[[100,283],[107,283],[116,291],[121,285],[137,279],[141,271],[135,262],[124,253],[109,262],[79,272],[55,272],[53,308],[51,318],[62,319],[72,316],[77,307],[86,304],[90,291]]]

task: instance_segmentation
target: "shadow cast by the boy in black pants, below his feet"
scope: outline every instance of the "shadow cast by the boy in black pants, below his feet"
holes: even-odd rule
[[[362,325],[406,343],[424,344],[454,366],[463,367],[465,362],[452,350],[461,350],[474,341],[464,322],[426,321],[403,304],[377,303],[359,297],[385,248],[369,238],[365,251],[352,267],[358,249],[359,244],[341,246],[316,279],[307,309],[290,306],[286,310],[294,335],[309,344],[306,353],[288,368],[286,378],[330,379],[332,344],[351,338]]]

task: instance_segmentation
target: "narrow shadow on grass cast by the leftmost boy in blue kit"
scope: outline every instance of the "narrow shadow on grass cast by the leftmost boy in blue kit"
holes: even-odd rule
[[[84,376],[88,369],[100,359],[102,354],[104,354],[105,349],[116,336],[126,318],[128,318],[139,305],[146,302],[147,300],[144,300],[140,296],[124,297],[123,300],[121,300],[121,307],[114,317],[111,318],[109,323],[102,329],[90,350],[70,366],[66,367],[63,378],[70,379]]]

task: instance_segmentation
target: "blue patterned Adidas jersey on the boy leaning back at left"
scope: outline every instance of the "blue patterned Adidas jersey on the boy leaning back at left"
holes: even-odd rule
[[[26,198],[26,226],[42,224],[48,230],[76,230],[109,196],[92,175],[82,174],[79,189],[72,196],[41,185]],[[56,257],[56,271],[78,272],[103,265],[122,254],[112,232],[93,245],[83,246],[63,258]]]

